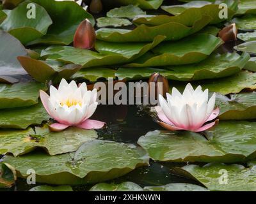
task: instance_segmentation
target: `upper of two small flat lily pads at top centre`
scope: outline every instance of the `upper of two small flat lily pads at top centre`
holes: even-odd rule
[[[128,6],[121,6],[120,8],[114,8],[107,13],[109,18],[134,18],[138,15],[146,15],[147,13],[141,10],[138,6],[132,4]]]

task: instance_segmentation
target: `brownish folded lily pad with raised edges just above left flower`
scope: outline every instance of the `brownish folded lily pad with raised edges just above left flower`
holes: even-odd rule
[[[18,57],[22,67],[38,82],[60,82],[62,78],[70,78],[81,66],[64,64],[58,61],[39,61],[30,57]]]

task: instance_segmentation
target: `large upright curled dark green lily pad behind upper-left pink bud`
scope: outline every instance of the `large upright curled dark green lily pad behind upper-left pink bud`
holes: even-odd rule
[[[77,26],[88,18],[94,25],[90,13],[79,6],[75,1],[32,0],[44,7],[52,19],[52,25],[45,36],[32,41],[29,45],[38,43],[69,45],[72,43]]]

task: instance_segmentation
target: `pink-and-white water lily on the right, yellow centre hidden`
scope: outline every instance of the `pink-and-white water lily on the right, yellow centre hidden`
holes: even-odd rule
[[[202,87],[198,86],[194,90],[188,84],[183,94],[173,87],[172,94],[166,94],[167,100],[159,95],[159,106],[156,106],[160,119],[158,123],[172,131],[201,132],[211,128],[218,122],[214,119],[218,117],[220,108],[214,109],[216,94],[212,94],[210,99],[208,94],[208,89],[202,91]]]

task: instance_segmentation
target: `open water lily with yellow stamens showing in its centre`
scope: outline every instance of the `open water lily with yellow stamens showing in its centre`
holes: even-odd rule
[[[90,120],[97,108],[97,90],[88,91],[85,83],[67,83],[62,79],[58,89],[51,85],[50,96],[40,90],[40,98],[45,110],[57,122],[51,124],[52,131],[61,131],[69,126],[83,129],[99,129],[104,122]]]

